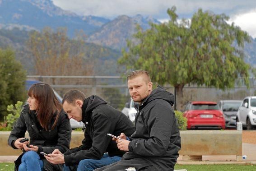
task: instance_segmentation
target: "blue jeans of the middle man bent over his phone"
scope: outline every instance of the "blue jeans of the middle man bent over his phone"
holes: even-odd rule
[[[97,168],[110,165],[114,162],[121,160],[121,157],[113,156],[109,157],[108,153],[105,153],[99,160],[96,159],[84,159],[78,164],[77,171],[93,171]],[[63,171],[70,171],[70,168],[64,165]]]

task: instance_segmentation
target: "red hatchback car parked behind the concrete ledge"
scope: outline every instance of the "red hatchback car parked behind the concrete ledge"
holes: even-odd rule
[[[190,102],[183,114],[187,129],[225,129],[225,119],[216,102]]]

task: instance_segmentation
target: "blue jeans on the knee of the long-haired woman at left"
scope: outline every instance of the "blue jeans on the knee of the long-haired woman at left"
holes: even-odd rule
[[[34,151],[28,151],[21,157],[19,171],[44,171],[43,161]]]

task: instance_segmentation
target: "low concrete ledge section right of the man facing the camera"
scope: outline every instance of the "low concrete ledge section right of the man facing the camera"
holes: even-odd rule
[[[183,156],[236,155],[242,156],[242,131],[189,130],[181,131]]]

